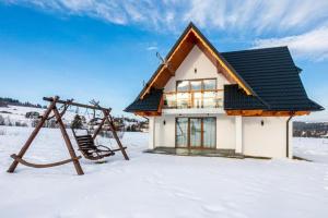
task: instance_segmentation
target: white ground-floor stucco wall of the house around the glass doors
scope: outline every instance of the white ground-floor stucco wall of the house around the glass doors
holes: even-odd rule
[[[155,147],[175,147],[175,118],[178,116],[162,116],[154,119]],[[189,116],[184,116],[189,117]],[[195,117],[195,116],[190,116]],[[198,114],[197,117],[206,117]],[[213,117],[213,116],[210,116]],[[218,114],[216,118],[216,148],[236,148],[235,117]],[[164,125],[165,120],[165,125]],[[261,125],[263,120],[263,125]],[[242,154],[257,157],[285,157],[286,149],[286,120],[277,117],[243,117],[243,148]],[[151,133],[150,133],[151,134]],[[290,144],[292,156],[292,144]]]

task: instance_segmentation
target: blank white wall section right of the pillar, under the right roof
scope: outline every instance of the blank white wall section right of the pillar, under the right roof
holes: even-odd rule
[[[243,117],[244,155],[284,158],[286,120],[286,117]]]

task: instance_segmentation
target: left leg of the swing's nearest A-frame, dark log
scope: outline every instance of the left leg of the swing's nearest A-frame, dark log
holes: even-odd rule
[[[35,136],[37,135],[37,133],[39,132],[39,130],[43,128],[43,125],[45,124],[47,118],[49,117],[51,110],[55,108],[57,100],[59,99],[58,96],[56,96],[55,98],[52,98],[51,104],[49,105],[48,109],[45,111],[42,120],[38,122],[38,124],[36,125],[36,128],[34,129],[34,131],[32,132],[32,134],[30,135],[30,137],[27,138],[26,143],[24,144],[24,146],[21,148],[20,153],[16,155],[19,158],[22,158],[26,150],[28,149],[30,145],[32,144],[32,142],[34,141]],[[11,166],[8,169],[8,172],[14,172],[16,167],[19,165],[17,160],[14,160]]]

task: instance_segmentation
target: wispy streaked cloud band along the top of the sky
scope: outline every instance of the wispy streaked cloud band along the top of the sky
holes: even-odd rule
[[[176,29],[194,21],[210,29],[297,32],[327,19],[327,0],[0,0],[116,24]]]

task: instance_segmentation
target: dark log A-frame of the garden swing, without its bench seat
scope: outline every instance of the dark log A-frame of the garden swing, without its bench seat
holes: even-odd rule
[[[101,132],[101,130],[103,129],[103,125],[105,124],[105,122],[108,122],[109,129],[113,133],[114,138],[117,142],[117,145],[119,146],[119,148],[117,150],[120,150],[121,154],[124,155],[126,160],[129,160],[129,157],[126,153],[126,147],[122,146],[122,144],[119,141],[119,137],[116,133],[115,130],[115,125],[114,125],[114,120],[110,116],[110,108],[103,108],[99,106],[91,106],[91,105],[83,105],[83,104],[79,104],[79,102],[73,102],[73,100],[60,100],[58,96],[54,97],[54,98],[49,98],[49,97],[44,97],[44,100],[49,101],[50,105],[47,108],[47,110],[44,112],[40,121],[38,122],[38,124],[36,125],[36,128],[34,129],[34,131],[31,133],[30,137],[27,138],[27,141],[25,142],[25,144],[23,145],[23,147],[21,148],[20,153],[17,155],[13,154],[11,155],[11,157],[14,159],[13,162],[11,164],[11,166],[8,169],[8,172],[14,172],[14,170],[16,169],[19,164],[22,164],[24,166],[27,167],[33,167],[33,168],[49,168],[49,167],[56,167],[56,166],[60,166],[60,165],[65,165],[65,164],[69,164],[69,162],[73,162],[74,168],[77,170],[77,173],[79,175],[84,174],[82,167],[80,165],[79,159],[81,158],[81,156],[77,156],[74,148],[72,146],[72,143],[69,138],[69,135],[66,131],[65,124],[62,122],[62,116],[65,114],[66,110],[68,109],[69,106],[77,106],[77,107],[81,107],[81,108],[89,108],[89,109],[93,109],[93,110],[101,110],[104,114],[104,118],[102,120],[102,122],[99,123],[98,128],[96,129],[96,131],[93,134],[93,138],[95,138],[97,136],[97,134]],[[61,104],[63,105],[63,110],[61,112],[59,112],[58,108],[57,108],[57,104]],[[27,152],[27,149],[30,148],[32,142],[34,141],[34,138],[36,137],[36,135],[38,134],[39,130],[43,128],[43,125],[45,124],[45,122],[49,119],[51,119],[52,117],[49,117],[51,111],[54,112],[54,117],[56,118],[56,123],[58,123],[61,135],[63,137],[63,141],[66,143],[66,146],[68,148],[68,152],[70,154],[69,159],[62,160],[62,161],[57,161],[57,162],[51,162],[51,164],[32,164],[28,162],[26,160],[23,159],[23,156],[25,155],[25,153]]]

